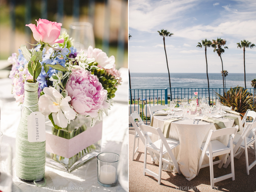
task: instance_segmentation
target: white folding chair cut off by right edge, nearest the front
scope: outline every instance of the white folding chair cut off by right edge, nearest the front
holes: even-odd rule
[[[252,124],[248,124],[247,127],[245,128],[245,130],[243,131],[242,135],[236,134],[234,141],[233,141],[233,144],[235,145],[234,150],[233,150],[234,157],[237,157],[237,156],[240,157],[241,154],[243,153],[243,151],[245,150],[245,162],[246,162],[247,175],[249,175],[250,169],[254,165],[256,165],[256,160],[254,162],[252,162],[251,165],[249,165],[248,151],[247,151],[247,148],[253,143],[254,144],[254,155],[256,158],[256,150],[255,150],[256,149],[255,148],[255,146],[256,146],[256,139],[255,139],[256,138],[256,135],[255,135],[256,129],[255,129],[255,127],[256,127],[256,122],[252,123]],[[246,134],[249,133],[251,130],[254,133],[252,139],[246,137]],[[223,167],[227,168],[229,163],[230,163],[230,157],[228,158],[228,160],[226,161],[226,164]]]

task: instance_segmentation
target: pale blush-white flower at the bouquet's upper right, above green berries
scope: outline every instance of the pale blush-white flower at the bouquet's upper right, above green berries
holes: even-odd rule
[[[92,46],[89,46],[87,55],[89,58],[95,58],[95,62],[104,69],[112,69],[116,67],[114,56],[112,55],[108,58],[107,54],[101,49],[94,49]]]

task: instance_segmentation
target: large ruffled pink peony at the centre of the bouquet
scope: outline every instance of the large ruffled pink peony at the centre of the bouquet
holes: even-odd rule
[[[103,108],[103,101],[107,96],[107,91],[103,89],[97,76],[80,66],[72,68],[66,90],[74,110],[91,117],[98,116],[98,110]]]

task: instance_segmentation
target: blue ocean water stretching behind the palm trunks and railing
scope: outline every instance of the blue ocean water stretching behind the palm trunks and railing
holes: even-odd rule
[[[162,89],[162,90],[139,90],[132,91],[132,98],[135,99],[155,99],[160,97],[164,99],[164,89],[169,87],[168,73],[130,73],[132,89]],[[194,97],[195,91],[199,92],[199,97],[208,97],[208,90],[206,89],[191,89],[191,88],[208,88],[207,76],[204,73],[171,73],[171,87],[183,88],[172,89],[172,98]],[[220,73],[209,73],[210,97],[216,98],[215,92],[223,95],[223,80]],[[256,79],[256,74],[246,74],[246,88],[253,88],[251,80]],[[233,73],[226,76],[226,88],[241,86],[244,87],[244,74]],[[184,89],[189,88],[189,89]],[[253,90],[248,90],[253,94]],[[170,96],[170,89],[168,89],[168,96]],[[129,92],[130,97],[130,92]]]

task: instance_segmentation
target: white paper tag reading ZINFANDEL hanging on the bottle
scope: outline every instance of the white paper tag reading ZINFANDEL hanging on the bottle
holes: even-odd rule
[[[36,111],[31,113],[27,120],[28,142],[44,142],[46,140],[44,115]]]

